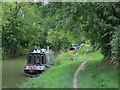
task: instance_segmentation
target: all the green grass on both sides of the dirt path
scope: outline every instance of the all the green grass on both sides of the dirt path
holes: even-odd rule
[[[78,66],[91,58],[87,62],[84,70],[80,71],[77,76],[78,88],[111,88],[118,87],[117,71],[106,69],[99,71],[97,68],[102,62],[103,56],[99,51],[88,52],[84,56],[86,49],[91,49],[90,46],[84,46],[78,50],[78,57],[75,60],[70,60],[73,53],[61,52],[54,58],[54,66],[39,77],[32,78],[22,84],[22,88],[72,88],[72,78]]]

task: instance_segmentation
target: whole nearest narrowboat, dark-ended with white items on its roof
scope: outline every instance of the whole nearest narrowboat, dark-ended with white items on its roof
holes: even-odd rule
[[[27,62],[24,66],[25,75],[38,75],[46,70],[46,67],[52,65],[53,51],[46,49],[37,49],[27,54]]]

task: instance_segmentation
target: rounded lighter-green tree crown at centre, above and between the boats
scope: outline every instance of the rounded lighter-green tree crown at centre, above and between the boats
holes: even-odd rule
[[[61,28],[58,30],[49,30],[47,42],[54,46],[54,49],[68,49],[73,41],[72,35],[69,31],[64,31]]]

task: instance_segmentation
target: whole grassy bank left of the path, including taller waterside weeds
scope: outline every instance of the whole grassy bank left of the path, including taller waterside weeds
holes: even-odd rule
[[[61,52],[54,59],[54,66],[41,74],[25,82],[23,88],[72,88],[72,78],[75,70],[83,62],[83,52],[88,47],[83,47],[76,60],[70,60],[74,53]]]

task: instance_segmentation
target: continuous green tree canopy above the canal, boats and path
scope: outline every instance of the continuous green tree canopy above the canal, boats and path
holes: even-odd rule
[[[94,49],[101,49],[105,60],[111,60],[114,48],[111,42],[120,24],[119,2],[50,2],[46,5],[16,2],[2,6],[4,53],[22,54],[35,45],[60,50],[72,43],[90,41]]]

